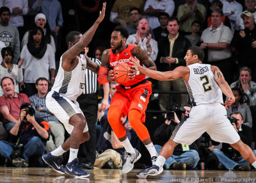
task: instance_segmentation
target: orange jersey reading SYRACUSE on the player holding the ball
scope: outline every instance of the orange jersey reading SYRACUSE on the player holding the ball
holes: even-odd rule
[[[118,63],[127,63],[132,65],[132,63],[130,63],[130,57],[132,56],[131,51],[135,46],[136,45],[129,44],[127,45],[127,48],[124,49],[124,51],[118,54],[113,53],[112,49],[110,49],[109,65],[113,68],[115,68]],[[140,65],[142,64],[140,63]],[[133,84],[139,83],[140,81],[143,81],[144,79],[145,75],[136,75],[134,79],[129,80],[127,83],[122,83],[122,85],[131,86]]]

